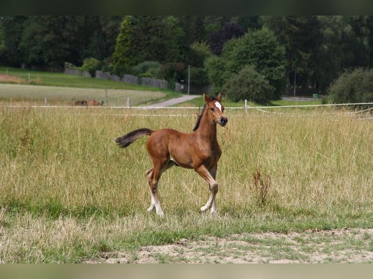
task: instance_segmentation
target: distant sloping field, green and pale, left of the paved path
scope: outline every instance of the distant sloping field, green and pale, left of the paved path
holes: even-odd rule
[[[6,75],[6,73],[8,73]],[[30,74],[30,82],[29,82]],[[108,103],[106,102],[108,94]],[[0,67],[0,101],[8,104],[73,105],[75,101],[104,101],[105,105],[146,105],[180,96],[156,87],[86,78],[64,73],[28,71]]]

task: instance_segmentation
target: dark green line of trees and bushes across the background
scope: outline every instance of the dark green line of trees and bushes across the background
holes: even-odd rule
[[[191,84],[263,103],[373,68],[372,32],[373,16],[2,16],[0,64],[169,84],[186,81],[190,65]]]

